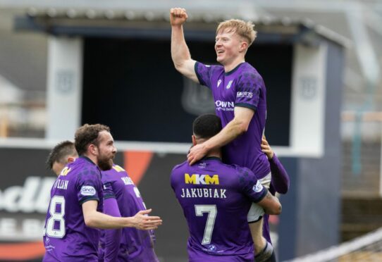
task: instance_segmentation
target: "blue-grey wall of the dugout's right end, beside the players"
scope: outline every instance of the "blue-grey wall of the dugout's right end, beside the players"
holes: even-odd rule
[[[328,44],[326,68],[324,156],[285,159],[285,166],[290,166],[291,188],[283,201],[281,260],[319,251],[339,241],[343,50],[336,45]]]

